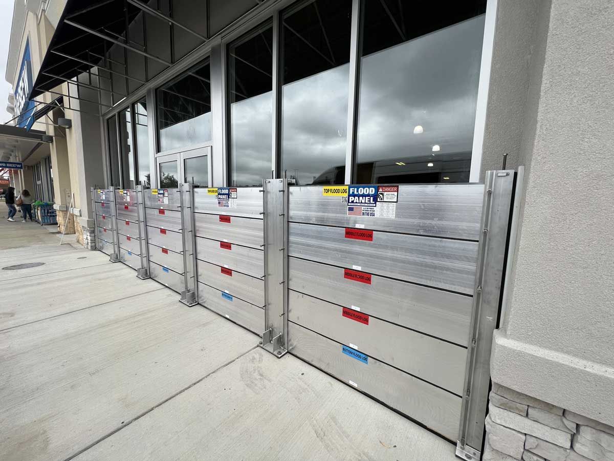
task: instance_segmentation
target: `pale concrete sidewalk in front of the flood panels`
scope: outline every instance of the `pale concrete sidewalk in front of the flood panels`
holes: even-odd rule
[[[44,262],[0,270],[0,460],[454,459],[452,444],[103,253],[6,221],[0,247],[14,248],[16,225],[46,244],[0,250],[1,268]]]

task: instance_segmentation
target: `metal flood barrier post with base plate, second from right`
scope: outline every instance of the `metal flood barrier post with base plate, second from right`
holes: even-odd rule
[[[265,332],[261,346],[282,357],[288,352],[286,179],[264,183]]]

